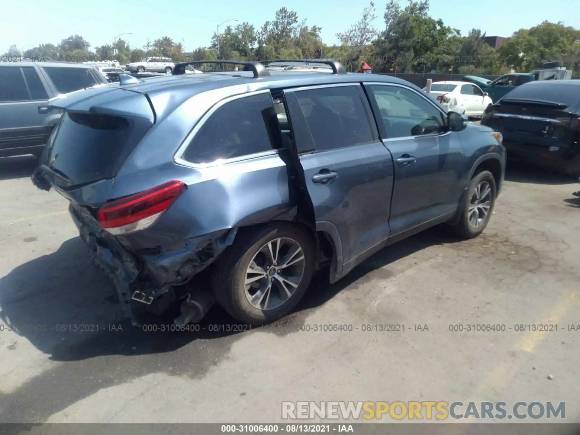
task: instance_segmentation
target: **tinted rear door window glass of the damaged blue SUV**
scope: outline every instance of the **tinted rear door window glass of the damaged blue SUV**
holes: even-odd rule
[[[367,111],[356,86],[299,90],[295,95],[317,151],[373,141]]]

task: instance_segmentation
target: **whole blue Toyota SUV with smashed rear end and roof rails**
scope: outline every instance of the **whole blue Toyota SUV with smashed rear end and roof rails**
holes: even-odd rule
[[[332,74],[187,64],[59,100],[66,114],[32,176],[70,201],[134,324],[176,298],[177,324],[213,300],[263,324],[317,269],[335,282],[427,227],[470,238],[487,225],[501,135],[415,85],[331,61]],[[190,281],[202,271],[211,287]]]

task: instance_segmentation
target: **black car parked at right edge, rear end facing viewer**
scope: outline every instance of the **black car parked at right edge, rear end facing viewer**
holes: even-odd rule
[[[488,107],[481,125],[503,135],[508,155],[580,176],[580,81],[521,85]]]

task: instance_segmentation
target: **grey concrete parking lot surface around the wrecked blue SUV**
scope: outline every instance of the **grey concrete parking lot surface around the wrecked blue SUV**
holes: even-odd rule
[[[2,422],[278,422],[298,400],[565,401],[580,421],[574,179],[510,164],[481,237],[432,229],[336,284],[320,273],[268,327],[234,331],[214,307],[164,333],[122,318],[36,162],[0,160]]]

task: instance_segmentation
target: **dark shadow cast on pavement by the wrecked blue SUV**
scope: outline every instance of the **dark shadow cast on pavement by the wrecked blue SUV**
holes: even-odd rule
[[[441,231],[430,229],[382,249],[335,284],[328,282],[328,269],[322,270],[314,276],[310,291],[295,313],[262,329],[280,333],[298,330],[296,320],[300,320],[296,317],[306,317],[300,316],[300,311],[324,305],[370,271],[430,245],[452,241]],[[175,328],[175,310],[155,319],[155,324],[147,328],[154,331],[133,327],[122,317],[112,285],[90,262],[78,238],[67,240],[57,252],[24,263],[2,278],[0,306],[3,322],[19,329],[21,336],[56,361],[171,352],[197,339],[223,338],[250,330],[217,305],[200,324],[190,325],[190,331],[167,331]],[[290,323],[292,328],[284,331]]]

